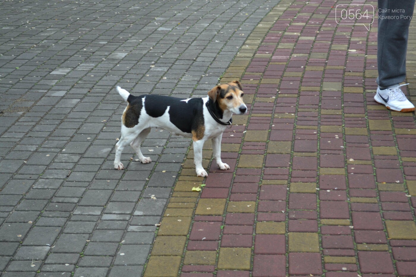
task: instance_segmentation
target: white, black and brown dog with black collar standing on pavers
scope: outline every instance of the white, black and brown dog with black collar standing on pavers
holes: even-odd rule
[[[197,176],[208,176],[202,167],[202,148],[208,139],[212,140],[213,157],[218,168],[230,169],[221,161],[221,138],[225,127],[232,123],[231,116],[247,111],[239,81],[215,86],[208,92],[208,97],[189,99],[151,94],[133,96],[121,87],[116,89],[128,104],[121,116],[121,138],[116,143],[115,169],[124,169],[120,156],[128,144],[142,163],[151,162],[149,157],[143,156],[140,146],[153,127],[192,138]]]

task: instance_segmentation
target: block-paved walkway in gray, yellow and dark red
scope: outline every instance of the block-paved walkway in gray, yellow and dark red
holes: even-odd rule
[[[337,25],[321,0],[145,2],[2,2],[0,275],[416,276],[416,119],[374,102],[377,20]],[[249,107],[223,134],[230,170],[206,143],[196,177],[191,141],[156,129],[154,162],[126,149],[112,169],[116,84],[186,98],[218,79]]]

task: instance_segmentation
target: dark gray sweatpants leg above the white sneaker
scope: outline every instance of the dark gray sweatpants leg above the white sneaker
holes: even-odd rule
[[[406,78],[406,50],[415,0],[378,0],[377,84],[395,87]],[[390,18],[388,18],[390,17]]]

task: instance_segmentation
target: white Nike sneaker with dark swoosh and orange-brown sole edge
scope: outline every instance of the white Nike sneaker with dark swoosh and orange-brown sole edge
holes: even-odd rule
[[[383,104],[387,109],[392,111],[409,112],[414,111],[415,106],[406,98],[400,87],[408,84],[402,84],[397,87],[389,89],[377,88],[377,93],[374,96],[376,102]]]

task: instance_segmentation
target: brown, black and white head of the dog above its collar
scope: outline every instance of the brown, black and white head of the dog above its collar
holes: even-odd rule
[[[208,97],[218,102],[220,109],[231,111],[233,114],[245,114],[247,111],[243,95],[243,87],[238,81],[218,85],[208,92]]]

